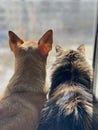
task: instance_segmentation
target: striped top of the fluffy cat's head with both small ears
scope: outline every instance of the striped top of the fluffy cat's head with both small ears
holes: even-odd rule
[[[86,61],[85,45],[80,45],[77,50],[64,49],[61,46],[56,46],[56,60],[62,63],[74,63]]]

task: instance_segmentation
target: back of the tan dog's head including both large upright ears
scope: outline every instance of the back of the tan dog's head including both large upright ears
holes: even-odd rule
[[[15,55],[17,64],[25,62],[29,64],[38,65],[46,63],[48,53],[52,49],[53,32],[48,30],[38,42],[24,41],[15,33],[9,31],[9,45]]]

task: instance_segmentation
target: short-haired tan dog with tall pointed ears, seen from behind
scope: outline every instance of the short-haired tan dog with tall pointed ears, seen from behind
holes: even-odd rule
[[[0,100],[0,130],[36,130],[46,100],[46,60],[52,48],[52,30],[35,43],[9,31],[15,55],[15,73]]]

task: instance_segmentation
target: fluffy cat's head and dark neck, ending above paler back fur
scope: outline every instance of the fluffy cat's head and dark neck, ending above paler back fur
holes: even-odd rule
[[[62,83],[80,83],[90,88],[93,77],[92,68],[85,53],[84,45],[79,46],[77,50],[56,46],[56,61],[52,67],[53,88]]]

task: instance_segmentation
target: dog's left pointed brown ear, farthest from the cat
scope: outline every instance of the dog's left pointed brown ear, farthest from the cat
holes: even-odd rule
[[[13,52],[16,51],[18,44],[22,44],[23,40],[21,40],[15,33],[13,33],[12,31],[8,32],[9,34],[9,44],[10,44],[10,48]]]

